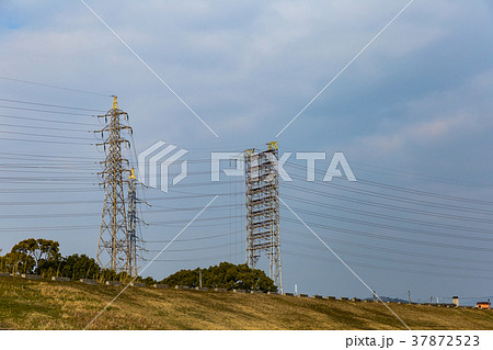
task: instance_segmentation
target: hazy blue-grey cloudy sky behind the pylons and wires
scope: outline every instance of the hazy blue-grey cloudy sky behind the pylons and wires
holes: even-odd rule
[[[142,266],[220,194],[145,275],[244,262],[244,179],[211,183],[208,160],[277,140],[293,154],[280,197],[369,289],[492,296],[490,1],[415,0],[278,136],[409,1],[87,3],[156,75],[81,1],[0,1],[2,253],[36,236],[95,257],[104,149],[93,115],[117,95],[133,165],[158,140],[188,150],[184,181],[139,187]],[[314,182],[301,151],[326,154]],[[322,181],[335,151],[356,182]],[[371,295],[284,205],[280,227],[286,292]]]

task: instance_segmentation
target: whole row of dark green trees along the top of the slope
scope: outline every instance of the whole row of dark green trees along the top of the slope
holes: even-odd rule
[[[94,279],[104,281],[129,282],[134,278],[125,272],[116,273],[110,269],[102,269],[98,262],[85,255],[71,255],[62,257],[59,251],[59,242],[49,239],[25,239],[12,247],[5,256],[0,256],[0,272],[12,274],[30,273],[43,278],[66,276],[72,281],[80,279]],[[181,270],[162,280],[160,283],[169,285],[199,285],[202,272],[202,285],[206,287],[221,287],[228,290],[246,290],[262,292],[277,292],[265,272],[250,269],[246,264],[236,266],[221,262],[208,269]],[[138,276],[137,282],[148,285],[157,283],[152,278]]]

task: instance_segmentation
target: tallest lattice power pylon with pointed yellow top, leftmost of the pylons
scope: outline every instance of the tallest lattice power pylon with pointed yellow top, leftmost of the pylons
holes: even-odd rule
[[[99,117],[104,117],[106,122],[104,128],[95,132],[101,133],[103,137],[103,143],[98,145],[104,146],[106,159],[101,162],[103,171],[100,172],[105,192],[96,259],[103,268],[131,274],[135,262],[131,259],[125,205],[125,185],[128,183],[125,172],[129,170],[128,160],[122,155],[123,145],[129,146],[129,142],[122,134],[124,131],[131,132],[131,127],[122,124],[122,118],[128,121],[128,114],[118,109],[116,97],[113,99],[112,109]],[[106,260],[107,258],[110,259]]]

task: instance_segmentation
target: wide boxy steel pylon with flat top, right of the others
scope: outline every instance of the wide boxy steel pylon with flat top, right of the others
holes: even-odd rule
[[[245,150],[246,204],[246,264],[255,268],[265,251],[268,276],[283,293],[279,238],[279,178],[277,169],[278,144],[271,142],[268,149]]]

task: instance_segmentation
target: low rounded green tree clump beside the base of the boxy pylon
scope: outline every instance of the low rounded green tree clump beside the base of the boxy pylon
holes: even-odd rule
[[[198,286],[199,269],[180,270],[161,281],[170,285]],[[244,264],[221,262],[219,266],[202,270],[202,284],[207,287],[221,287],[228,290],[246,290],[262,292],[277,292],[277,286],[264,271],[250,269]]]

